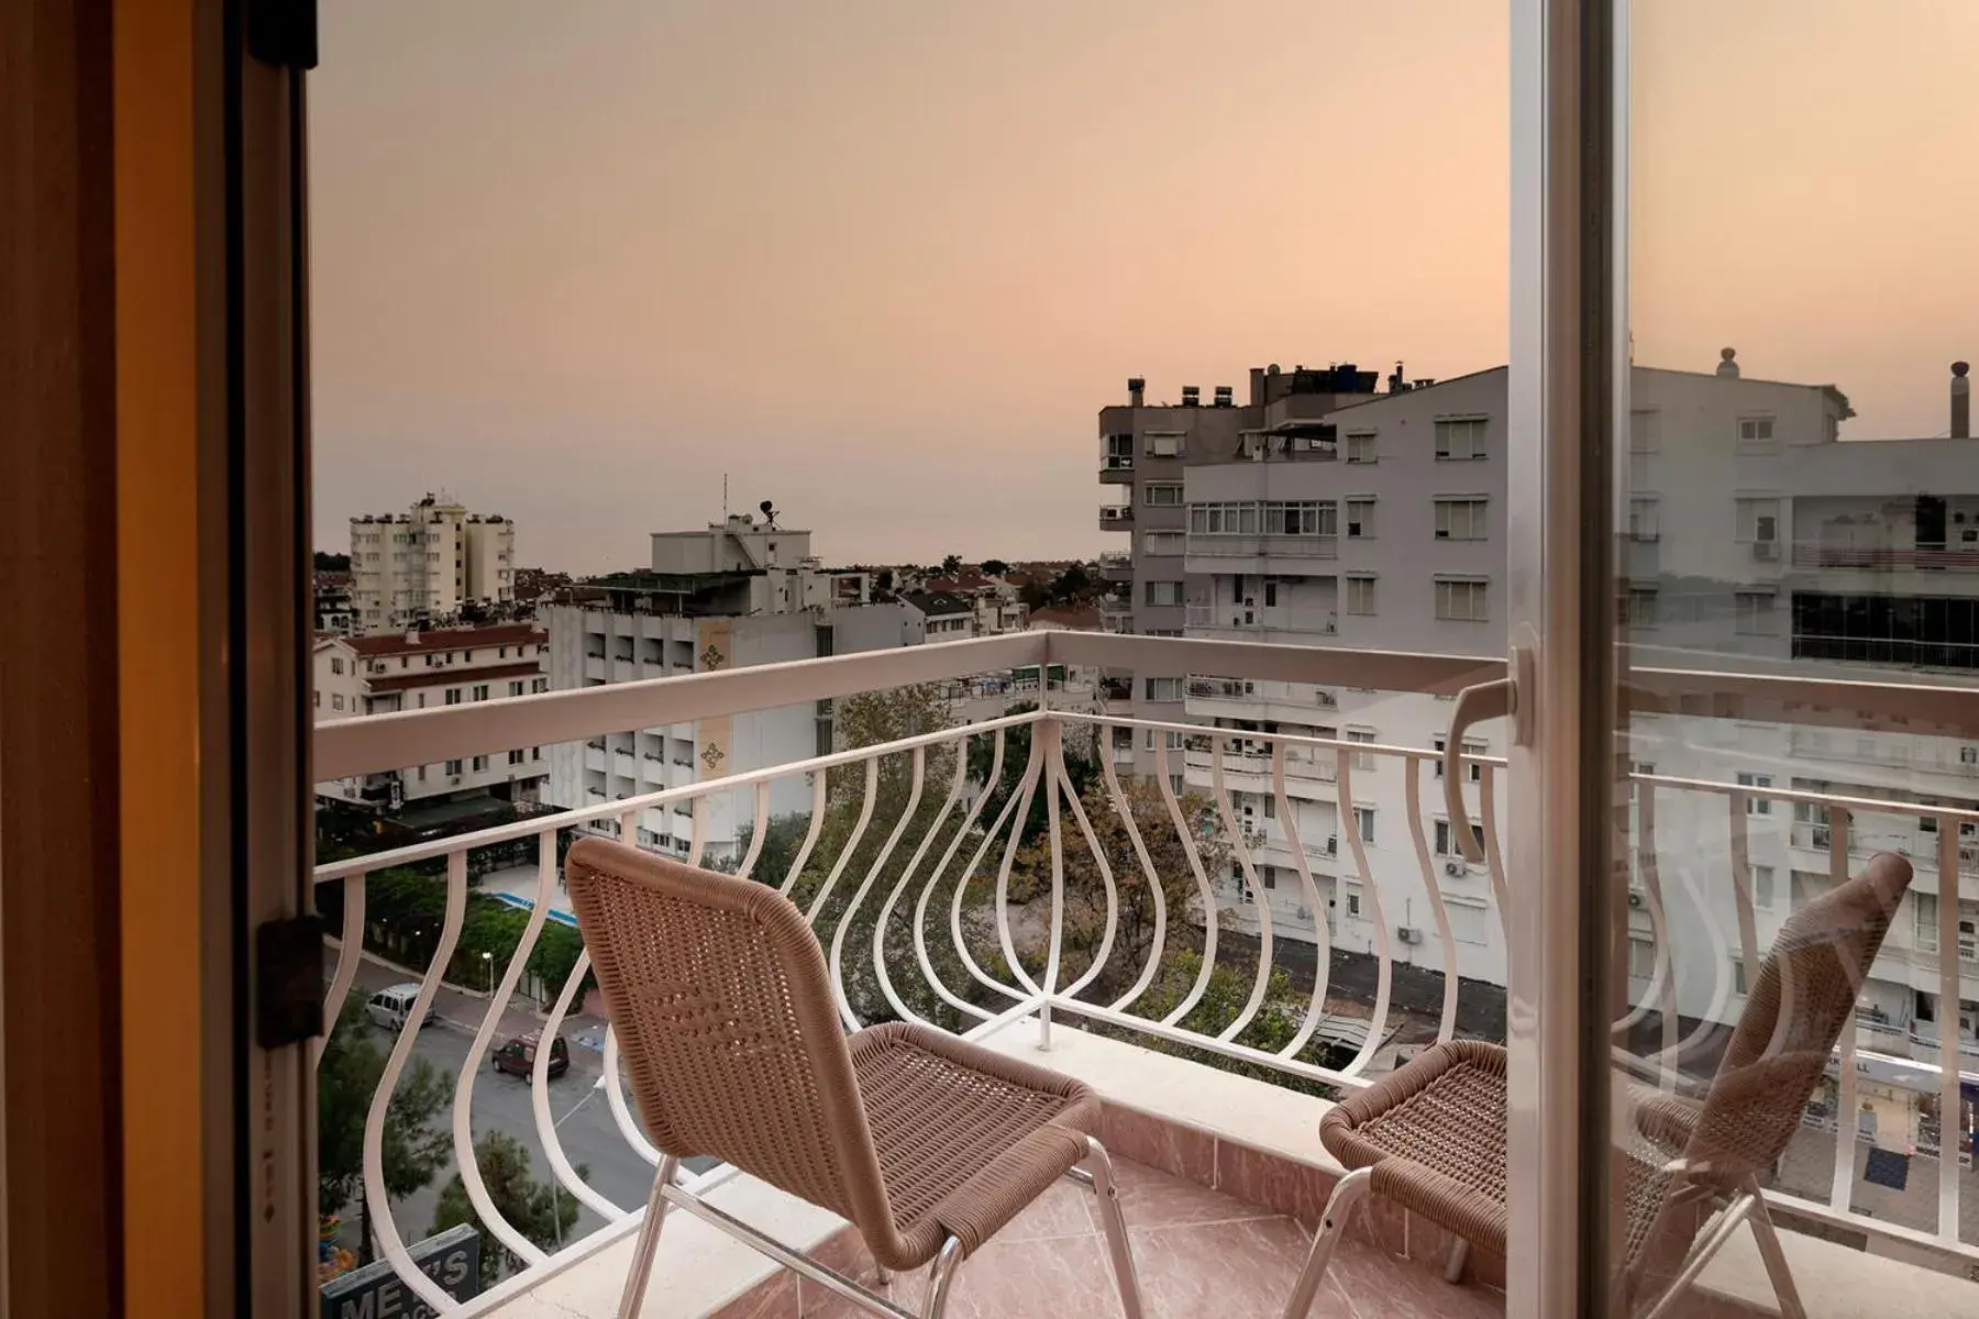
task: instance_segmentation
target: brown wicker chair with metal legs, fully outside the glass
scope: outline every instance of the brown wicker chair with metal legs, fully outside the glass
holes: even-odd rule
[[[639,1111],[661,1151],[619,1305],[631,1319],[667,1206],[738,1236],[881,1315],[904,1315],[849,1277],[675,1185],[712,1155],[851,1220],[883,1270],[932,1260],[922,1315],[940,1315],[956,1266],[1057,1179],[1100,1202],[1120,1303],[1140,1285],[1098,1098],[1065,1076],[904,1022],[847,1038],[803,916],[762,884],[584,838],[564,862]]]

